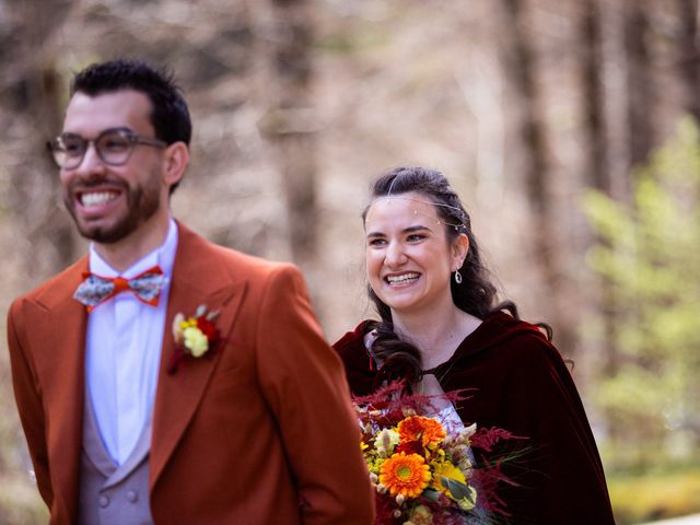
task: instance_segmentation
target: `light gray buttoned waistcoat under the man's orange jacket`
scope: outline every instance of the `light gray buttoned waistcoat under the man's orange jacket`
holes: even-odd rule
[[[151,419],[127,460],[117,467],[102,442],[88,392],[84,415],[79,525],[152,525],[148,462]]]

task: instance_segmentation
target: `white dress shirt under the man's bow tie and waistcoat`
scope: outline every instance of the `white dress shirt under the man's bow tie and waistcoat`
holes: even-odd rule
[[[131,279],[158,265],[167,278],[158,306],[121,292],[88,315],[88,394],[104,445],[117,465],[129,457],[153,410],[176,250],[177,225],[172,219],[163,245],[121,273],[90,246],[93,273]]]

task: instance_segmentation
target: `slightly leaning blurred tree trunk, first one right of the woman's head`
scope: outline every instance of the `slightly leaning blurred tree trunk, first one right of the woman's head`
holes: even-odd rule
[[[549,310],[559,347],[567,354],[575,352],[578,338],[570,311],[564,304],[564,270],[557,255],[557,229],[549,195],[550,165],[542,102],[537,85],[536,56],[523,27],[525,0],[501,0],[508,42],[506,71],[520,108],[518,136],[524,144],[524,189],[533,219],[533,245],[537,256],[544,296],[551,298]]]

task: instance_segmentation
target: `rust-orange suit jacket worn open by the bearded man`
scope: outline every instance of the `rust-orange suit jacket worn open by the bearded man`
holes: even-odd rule
[[[179,237],[155,406],[150,505],[156,524],[370,524],[373,495],[342,365],[299,270]],[[72,299],[88,258],[15,300],[8,340],[15,398],[51,524],[75,521],[86,313]],[[225,343],[166,372],[171,325],[220,311]]]

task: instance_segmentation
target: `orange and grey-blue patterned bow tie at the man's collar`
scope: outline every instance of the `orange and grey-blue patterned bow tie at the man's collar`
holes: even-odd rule
[[[83,277],[85,280],[75,290],[73,299],[84,304],[88,312],[92,312],[100,304],[120,292],[131,292],[141,302],[158,306],[161,289],[167,282],[163,270],[158,266],[139,273],[133,279],[101,277],[89,271],[84,272]]]

